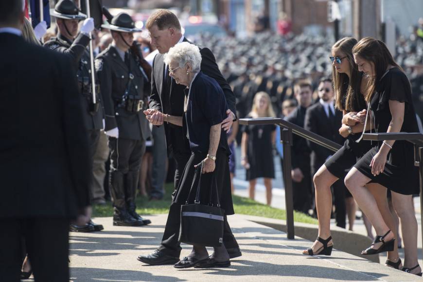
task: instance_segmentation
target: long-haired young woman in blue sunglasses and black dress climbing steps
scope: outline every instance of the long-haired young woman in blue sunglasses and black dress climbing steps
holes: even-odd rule
[[[344,179],[351,167],[370,148],[370,141],[361,140],[360,132],[363,131],[363,122],[366,119],[366,102],[362,93],[365,92],[367,80],[362,77],[353,60],[353,47],[357,40],[345,37],[337,41],[332,47],[332,75],[335,88],[335,106],[343,110],[344,118],[339,133],[347,138],[344,146],[322,165],[313,181],[315,184],[316,209],[319,222],[318,237],[311,248],[304,250],[306,255],[330,255],[333,242],[330,230],[330,217],[332,209],[331,186],[338,179]],[[364,109],[364,110],[363,110]],[[370,128],[370,122],[367,126]],[[369,184],[369,191],[374,195],[385,221],[392,230],[394,222],[389,212],[386,193],[378,184]],[[401,266],[397,248],[388,252],[386,264],[394,268]]]

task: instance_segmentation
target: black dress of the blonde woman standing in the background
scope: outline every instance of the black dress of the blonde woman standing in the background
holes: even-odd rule
[[[274,124],[244,126],[243,132],[248,134],[247,159],[250,164],[247,180],[259,177],[275,178],[272,154],[272,133],[275,130]]]

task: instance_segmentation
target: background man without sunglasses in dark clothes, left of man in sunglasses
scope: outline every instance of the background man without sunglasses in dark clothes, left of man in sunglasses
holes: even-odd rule
[[[304,127],[305,112],[312,102],[313,88],[308,81],[299,81],[294,86],[294,96],[298,106],[285,117],[285,120]],[[293,136],[292,145],[292,188],[294,197],[294,210],[308,213],[311,208],[312,178],[310,173],[310,148],[307,141],[298,136]]]

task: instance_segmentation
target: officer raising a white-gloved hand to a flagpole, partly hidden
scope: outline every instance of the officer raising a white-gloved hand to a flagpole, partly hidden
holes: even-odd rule
[[[84,121],[90,143],[91,166],[97,149],[100,130],[103,129],[103,111],[97,103],[93,103],[92,85],[91,85],[91,66],[90,57],[87,50],[89,43],[89,33],[94,29],[92,18],[81,13],[75,2],[72,0],[60,0],[52,9],[51,15],[57,18],[58,27],[57,37],[52,37],[44,46],[57,52],[65,53],[71,56],[72,62],[77,70],[78,89],[80,92],[81,104],[84,108]],[[85,19],[78,34],[78,22]],[[98,88],[97,88],[98,89]],[[96,91],[98,94],[98,91]],[[90,221],[85,226],[71,225],[71,231],[90,232],[100,231],[102,225],[94,224]]]

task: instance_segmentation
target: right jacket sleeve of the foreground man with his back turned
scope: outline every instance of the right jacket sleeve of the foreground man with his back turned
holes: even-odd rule
[[[59,72],[62,89],[62,123],[64,128],[65,146],[67,148],[73,189],[78,201],[78,208],[89,205],[89,189],[91,183],[92,166],[89,161],[89,143],[87,131],[84,127],[84,115],[81,99],[78,94],[76,71],[72,69],[69,57],[63,58]]]

